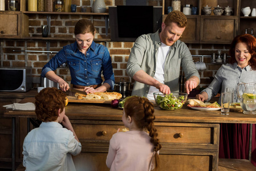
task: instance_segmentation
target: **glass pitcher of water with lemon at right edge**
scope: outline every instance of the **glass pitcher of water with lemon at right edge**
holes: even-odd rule
[[[242,96],[239,94],[242,92]],[[256,114],[256,83],[239,83],[237,96],[245,114]]]

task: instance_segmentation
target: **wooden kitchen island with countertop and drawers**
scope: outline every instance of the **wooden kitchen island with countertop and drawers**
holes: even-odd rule
[[[34,98],[23,99],[20,103],[28,101]],[[111,108],[110,104],[68,103],[66,115],[82,144],[82,153],[74,157],[78,170],[109,170],[105,165],[109,140],[118,128],[125,128],[122,112]],[[186,105],[177,111],[155,107],[155,125],[162,144],[160,170],[218,170],[220,123],[256,123],[255,115],[230,112],[229,116],[224,116],[220,113],[195,111]],[[35,117],[35,112],[6,110],[4,116],[15,120]]]

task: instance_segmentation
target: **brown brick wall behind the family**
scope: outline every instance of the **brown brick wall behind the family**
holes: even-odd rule
[[[72,0],[72,3],[80,6],[90,6],[90,1],[78,1]],[[150,1],[148,5],[161,6],[162,1]],[[105,1],[108,6],[123,5],[124,0],[108,0]],[[41,25],[47,24],[46,15],[43,14],[28,14],[29,15],[29,35],[30,36],[42,36]],[[105,18],[98,15],[51,15],[51,33],[50,37],[63,37],[74,38],[74,26],[79,19],[90,19],[96,27],[95,38],[110,38],[110,30],[108,35],[105,35]],[[110,28],[111,29],[111,28]],[[59,51],[63,46],[73,43],[74,41],[55,41],[51,40],[15,40],[15,39],[1,39],[1,66],[3,67],[32,67],[32,75],[34,77],[34,87],[40,86],[40,74],[44,64],[48,62],[54,56],[50,54],[47,57],[47,53],[38,52],[13,52],[13,50],[47,50],[47,43],[50,44],[50,51]],[[119,82],[120,78],[124,78],[126,82],[132,82],[126,74],[125,68],[127,65],[129,53],[133,46],[133,42],[100,42],[107,46],[112,58],[113,72],[115,74],[116,82]],[[217,54],[218,50],[221,53],[227,53],[229,45],[226,44],[188,44],[188,47],[192,55],[212,55],[213,52]],[[200,60],[198,57],[194,57],[194,62]],[[221,64],[212,64],[210,57],[205,57],[207,69],[200,71],[201,84],[200,87],[206,87],[212,81],[214,74],[220,68]],[[70,71],[68,68],[58,68],[55,71],[56,74],[70,83]]]

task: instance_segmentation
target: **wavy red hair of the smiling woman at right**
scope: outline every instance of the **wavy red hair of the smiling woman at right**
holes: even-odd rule
[[[230,63],[236,63],[235,59],[235,46],[237,43],[245,43],[247,45],[247,50],[251,54],[251,59],[249,60],[249,66],[255,71],[256,70],[256,38],[250,34],[242,34],[236,36],[230,46],[229,55]]]

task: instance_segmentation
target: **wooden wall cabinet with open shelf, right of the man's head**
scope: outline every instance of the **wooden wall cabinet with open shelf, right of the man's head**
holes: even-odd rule
[[[167,7],[171,6],[172,0],[163,0],[163,21],[166,18]],[[190,4],[198,7],[198,15],[186,15],[188,25],[180,40],[185,43],[214,43],[229,44],[238,34],[238,0],[218,1],[218,0],[181,0],[182,6]],[[217,5],[221,7],[233,7],[234,15],[232,16],[216,16],[213,11],[211,15],[204,15],[202,7],[211,6],[212,10]]]

